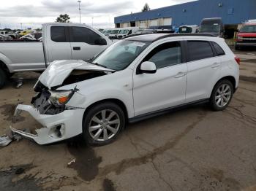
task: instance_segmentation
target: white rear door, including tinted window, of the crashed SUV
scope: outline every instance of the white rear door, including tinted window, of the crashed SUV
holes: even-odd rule
[[[210,98],[221,74],[221,59],[207,40],[187,41],[187,53],[186,102]]]

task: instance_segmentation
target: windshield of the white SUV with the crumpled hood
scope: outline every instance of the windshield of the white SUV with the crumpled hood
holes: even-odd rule
[[[123,70],[148,47],[150,42],[121,40],[99,54],[92,63],[113,70]]]

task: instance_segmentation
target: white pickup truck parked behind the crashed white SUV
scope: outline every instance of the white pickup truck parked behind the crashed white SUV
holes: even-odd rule
[[[42,25],[42,42],[0,42],[0,88],[18,71],[42,71],[56,60],[88,60],[113,42],[90,26],[74,23]]]

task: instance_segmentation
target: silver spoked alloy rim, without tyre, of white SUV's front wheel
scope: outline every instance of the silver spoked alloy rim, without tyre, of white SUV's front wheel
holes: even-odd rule
[[[120,127],[120,117],[111,109],[104,109],[89,122],[89,133],[95,141],[107,141],[116,135]]]

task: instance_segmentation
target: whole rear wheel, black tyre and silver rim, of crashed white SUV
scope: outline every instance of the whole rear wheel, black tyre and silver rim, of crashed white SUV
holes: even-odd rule
[[[214,90],[211,93],[210,105],[214,111],[222,111],[227,108],[233,97],[233,84],[224,79],[214,86]]]

